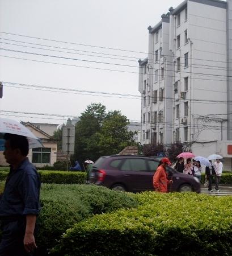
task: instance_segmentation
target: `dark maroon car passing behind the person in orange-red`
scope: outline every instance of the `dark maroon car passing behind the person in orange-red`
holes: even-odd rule
[[[153,175],[158,164],[159,159],[150,156],[102,156],[92,166],[87,183],[103,185],[117,191],[153,191]],[[173,180],[173,184],[168,187],[168,191],[195,191],[200,193],[200,183],[197,178],[180,174],[171,167],[167,168],[167,173],[168,179]]]

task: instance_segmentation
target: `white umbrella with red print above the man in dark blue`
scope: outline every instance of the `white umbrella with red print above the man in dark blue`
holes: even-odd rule
[[[0,118],[0,133],[11,133],[27,137],[29,148],[43,147],[40,140],[27,127],[12,119]],[[0,143],[0,149],[3,150],[2,143],[4,143],[4,140],[1,139]]]

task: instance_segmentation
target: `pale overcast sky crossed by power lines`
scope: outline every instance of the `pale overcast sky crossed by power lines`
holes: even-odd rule
[[[100,102],[107,111],[120,110],[130,121],[140,122],[137,60],[146,57],[147,27],[155,26],[170,6],[175,8],[181,2],[0,0],[0,31],[10,33],[0,33],[3,48],[0,50],[0,81],[4,85],[0,99],[1,116],[18,121],[60,124],[67,119],[63,115],[79,116],[87,105]],[[139,97],[108,97],[108,94],[60,89],[54,92],[48,87]]]

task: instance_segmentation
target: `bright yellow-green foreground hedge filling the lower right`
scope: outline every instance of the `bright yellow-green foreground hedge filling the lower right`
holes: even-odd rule
[[[232,197],[134,197],[137,209],[97,215],[68,229],[53,255],[232,255]]]

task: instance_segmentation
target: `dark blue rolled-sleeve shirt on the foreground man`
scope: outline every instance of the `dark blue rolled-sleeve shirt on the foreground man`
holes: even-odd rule
[[[0,216],[39,214],[40,177],[26,158],[17,170],[10,168],[0,201]]]

